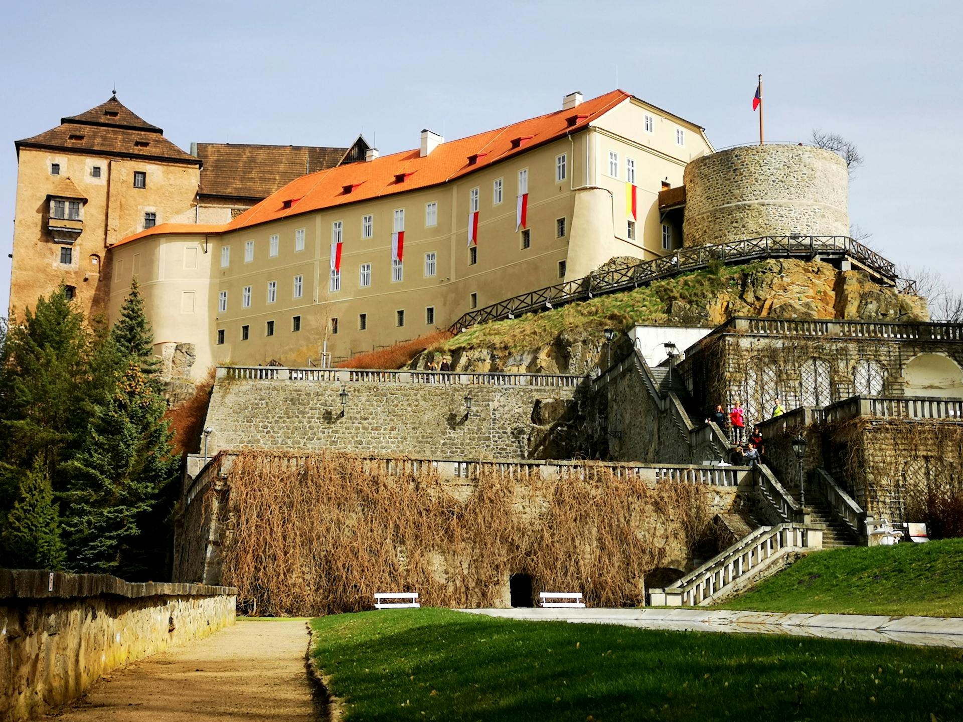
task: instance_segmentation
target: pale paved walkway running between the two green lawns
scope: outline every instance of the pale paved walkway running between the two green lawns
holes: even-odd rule
[[[884,617],[863,614],[782,614],[728,609],[461,609],[512,619],[620,624],[645,630],[687,632],[749,632],[822,636],[871,642],[899,642],[932,647],[963,648],[963,619]]]

